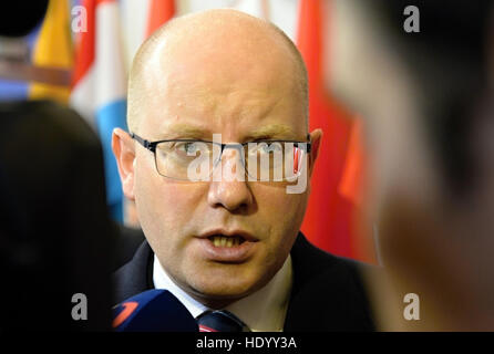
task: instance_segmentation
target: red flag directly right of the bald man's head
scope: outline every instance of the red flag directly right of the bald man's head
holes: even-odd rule
[[[335,254],[362,259],[357,252],[360,237],[354,227],[354,200],[340,192],[354,116],[326,93],[323,85],[325,11],[320,0],[300,0],[297,46],[307,65],[309,76],[310,131],[323,132],[318,162],[311,178],[311,194],[301,227],[308,239]],[[359,170],[356,160],[352,171]],[[349,180],[350,177],[347,177]],[[348,181],[347,181],[348,184]],[[367,260],[367,259],[366,259]]]

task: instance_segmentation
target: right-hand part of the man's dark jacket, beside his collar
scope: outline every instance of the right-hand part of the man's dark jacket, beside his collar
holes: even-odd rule
[[[294,283],[285,320],[292,331],[372,331],[361,263],[332,256],[299,232],[291,249]]]

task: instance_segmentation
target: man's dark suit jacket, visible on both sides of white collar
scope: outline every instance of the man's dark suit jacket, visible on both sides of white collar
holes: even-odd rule
[[[327,253],[300,232],[291,249],[294,284],[285,331],[373,331],[362,263]],[[116,303],[153,289],[153,251],[144,241],[115,272]]]

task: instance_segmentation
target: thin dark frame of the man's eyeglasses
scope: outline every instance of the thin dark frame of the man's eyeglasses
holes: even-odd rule
[[[292,143],[292,144],[297,144],[298,148],[301,148],[306,152],[307,155],[310,154],[311,152],[311,146],[312,143],[310,142],[310,134],[307,134],[307,139],[308,142],[298,142],[298,140],[259,140],[259,142],[246,142],[246,143],[217,143],[217,142],[207,142],[207,140],[202,140],[202,139],[163,139],[163,140],[155,140],[155,142],[150,142],[147,139],[142,138],[141,136],[138,136],[135,133],[128,133],[131,135],[131,137],[136,140],[137,143],[140,143],[144,148],[148,149],[150,152],[152,152],[154,154],[154,165],[156,168],[156,171],[158,173],[159,176],[163,176],[165,178],[172,178],[172,179],[176,179],[176,180],[182,180],[178,178],[174,178],[174,177],[169,177],[169,176],[164,176],[162,174],[159,174],[159,170],[157,168],[157,160],[156,160],[156,146],[161,143],[171,143],[171,142],[183,142],[183,143],[187,143],[187,142],[200,142],[200,143],[208,143],[208,144],[213,144],[216,146],[220,147],[219,150],[219,158],[217,162],[214,162],[215,164],[222,160],[222,156],[223,156],[223,152],[225,149],[225,147],[229,147],[229,148],[235,148],[240,153],[240,149],[238,147],[241,147],[244,149],[245,146],[248,147],[248,144],[251,143]],[[305,144],[305,148],[299,147],[298,144]],[[245,160],[244,160],[244,155],[239,154],[241,156],[241,163],[245,166]],[[247,171],[246,171],[247,173]]]

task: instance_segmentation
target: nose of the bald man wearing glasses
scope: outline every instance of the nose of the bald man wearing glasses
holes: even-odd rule
[[[236,177],[233,178],[233,176]],[[238,178],[240,176],[244,178]],[[230,212],[246,210],[254,202],[254,196],[237,150],[225,149],[223,152],[218,166],[215,166],[214,178],[209,183],[207,200],[212,207],[225,208]]]

